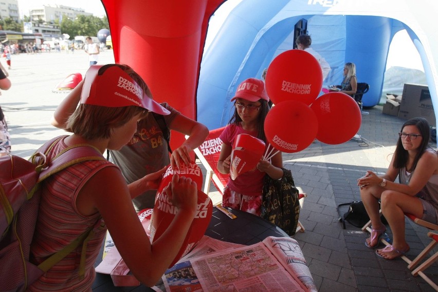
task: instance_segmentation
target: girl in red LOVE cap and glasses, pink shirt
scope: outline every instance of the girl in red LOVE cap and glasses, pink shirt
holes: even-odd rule
[[[220,136],[223,143],[217,169],[221,173],[230,173],[232,145],[237,135],[249,134],[266,143],[263,125],[269,111],[269,98],[264,82],[255,78],[245,80],[239,85],[231,101],[235,101],[234,114]],[[282,167],[281,152],[274,155],[270,161],[260,160],[253,170],[228,181],[222,205],[260,216],[263,177],[267,173],[272,179],[281,179]]]

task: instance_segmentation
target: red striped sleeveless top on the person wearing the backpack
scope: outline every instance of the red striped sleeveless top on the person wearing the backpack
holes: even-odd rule
[[[50,150],[47,157],[53,157],[66,147],[64,139],[61,139]],[[96,234],[86,246],[85,277],[79,277],[82,252],[82,244],[80,244],[76,250],[70,252],[34,282],[27,289],[28,291],[91,291],[95,278],[94,263],[106,233],[106,226],[99,213],[92,216],[80,215],[75,202],[79,190],[87,180],[108,166],[117,167],[106,160],[80,162],[53,174],[44,181],[31,245],[34,262],[36,264],[43,262],[74,241],[89,227],[93,226]]]

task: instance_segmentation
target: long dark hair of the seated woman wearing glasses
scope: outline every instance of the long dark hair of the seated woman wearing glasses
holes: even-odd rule
[[[430,126],[427,120],[424,118],[412,118],[406,121],[403,124],[403,126],[401,126],[400,132],[402,132],[406,126],[417,127],[418,131],[420,132],[423,138],[421,145],[418,148],[418,152],[415,155],[411,169],[409,170],[407,169],[408,171],[412,172],[417,166],[418,160],[420,159],[421,155],[423,155],[424,151],[427,148],[429,148]],[[397,146],[394,152],[394,167],[402,168],[405,167],[407,163],[408,163],[408,151],[405,150],[405,148],[403,148],[403,144],[401,144],[401,137],[398,137]]]

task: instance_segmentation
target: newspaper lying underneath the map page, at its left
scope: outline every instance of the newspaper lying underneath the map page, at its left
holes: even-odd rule
[[[244,245],[204,236],[192,251],[181,258],[173,267],[166,270],[162,277],[162,283],[157,283],[157,289],[155,290],[159,291],[158,289],[160,289],[169,292],[202,291],[203,289],[193,270],[190,259],[209,255],[217,251],[231,250],[241,246]]]

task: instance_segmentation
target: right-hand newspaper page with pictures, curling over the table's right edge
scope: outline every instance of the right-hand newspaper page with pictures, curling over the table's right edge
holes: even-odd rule
[[[291,275],[307,287],[309,291],[317,292],[311,272],[307,267],[303,252],[295,239],[289,237],[267,237],[263,240],[266,247],[275,255],[284,268]]]

